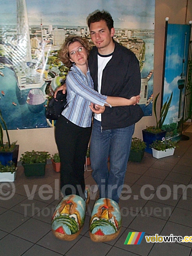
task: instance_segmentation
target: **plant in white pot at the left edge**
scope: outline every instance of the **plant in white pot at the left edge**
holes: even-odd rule
[[[16,178],[16,169],[11,161],[7,165],[0,163],[0,182],[13,182]]]

